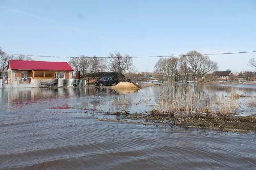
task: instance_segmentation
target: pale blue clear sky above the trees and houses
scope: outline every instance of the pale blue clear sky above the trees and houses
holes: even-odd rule
[[[6,53],[107,57],[256,50],[256,1],[0,0],[0,47]],[[219,71],[255,69],[256,53],[211,55]],[[68,58],[33,57],[38,61]],[[159,58],[133,58],[153,71]]]

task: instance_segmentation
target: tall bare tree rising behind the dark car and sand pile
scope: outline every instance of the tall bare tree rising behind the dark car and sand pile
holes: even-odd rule
[[[122,56],[119,52],[115,51],[114,54],[109,53],[109,57],[110,71],[126,75],[128,70],[131,70],[133,67],[132,58],[128,54]]]

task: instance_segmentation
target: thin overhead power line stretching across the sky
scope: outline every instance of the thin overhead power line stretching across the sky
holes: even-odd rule
[[[224,52],[224,53],[208,53],[208,54],[201,54],[201,55],[223,55],[223,54],[239,54],[239,53],[254,53],[256,51],[240,51],[240,52]],[[8,54],[8,53],[5,53]],[[26,54],[8,54],[8,55],[26,55]],[[33,56],[33,57],[54,57],[54,58],[94,58],[88,56],[79,56],[79,57],[65,57],[65,56],[49,56],[49,55],[31,55],[28,54],[26,56]],[[159,55],[159,56],[129,56],[128,58],[157,58],[157,57],[180,57],[180,56],[192,56],[192,55]],[[112,57],[96,57],[96,58],[112,58]],[[120,58],[126,58],[126,56],[122,56]]]

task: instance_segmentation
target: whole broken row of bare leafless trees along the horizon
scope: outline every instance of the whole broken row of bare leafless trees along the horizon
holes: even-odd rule
[[[12,59],[33,60],[26,55],[16,57],[7,55],[0,48],[0,78],[5,76],[4,71],[7,71],[8,60]],[[109,53],[108,58],[80,55],[77,58],[71,58],[68,63],[75,71],[80,71],[81,78],[87,73],[105,71],[118,72],[127,76],[134,68],[130,55],[121,55],[117,51]],[[252,57],[248,65],[256,68],[256,59]],[[177,80],[187,82],[191,79],[198,81],[206,74],[216,70],[218,70],[218,64],[211,61],[209,56],[202,55],[197,51],[189,51],[180,57],[160,58],[154,67],[154,71],[160,75],[160,78],[169,79],[173,82]]]

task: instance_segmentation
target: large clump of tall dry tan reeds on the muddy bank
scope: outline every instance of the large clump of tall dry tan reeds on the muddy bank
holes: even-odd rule
[[[197,91],[191,85],[167,85],[160,92],[154,107],[154,114],[173,114],[174,116],[228,116],[234,113],[236,97],[229,100],[223,94]],[[234,94],[234,90],[230,91]]]

